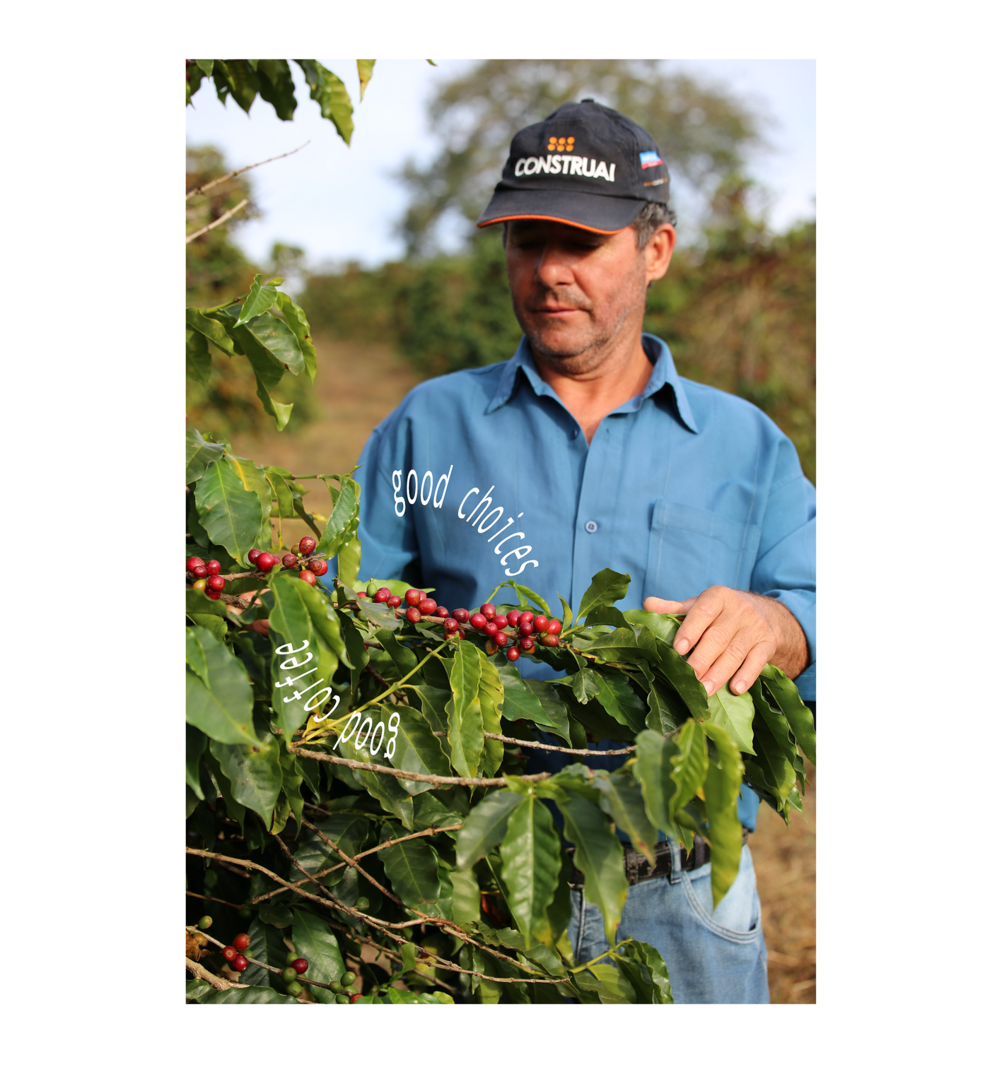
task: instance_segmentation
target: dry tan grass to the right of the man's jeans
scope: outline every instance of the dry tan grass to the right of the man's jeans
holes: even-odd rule
[[[805,820],[788,828],[766,803],[749,837],[763,902],[773,1005],[818,1004],[818,773],[812,769]]]

